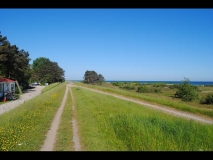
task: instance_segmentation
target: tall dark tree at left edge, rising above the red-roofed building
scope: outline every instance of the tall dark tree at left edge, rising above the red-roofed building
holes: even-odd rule
[[[7,37],[0,34],[0,74],[3,77],[27,83],[31,77],[29,53],[11,45]]]

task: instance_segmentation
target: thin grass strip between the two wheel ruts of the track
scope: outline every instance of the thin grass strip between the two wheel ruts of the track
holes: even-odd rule
[[[74,151],[72,129],[72,98],[70,91],[67,95],[66,104],[60,119],[54,151]]]

